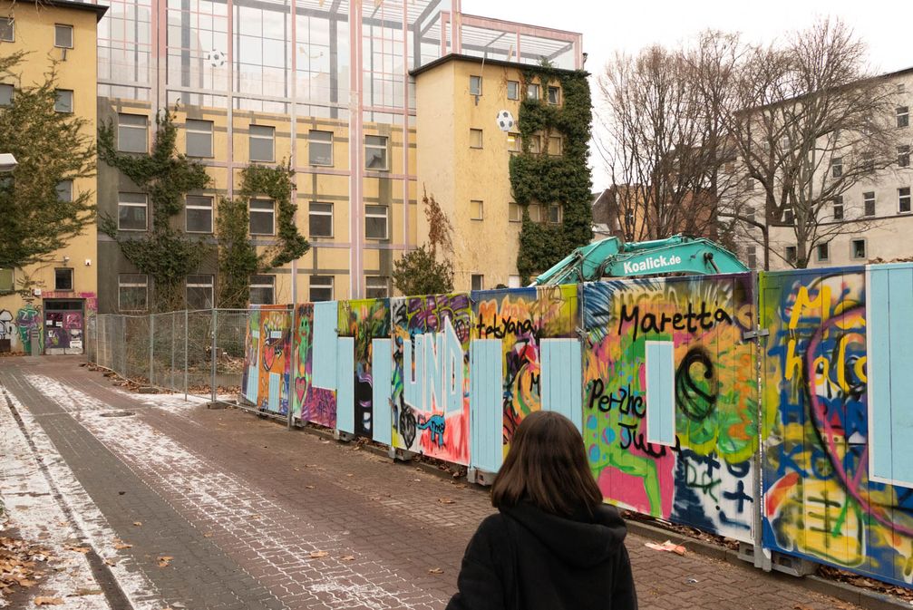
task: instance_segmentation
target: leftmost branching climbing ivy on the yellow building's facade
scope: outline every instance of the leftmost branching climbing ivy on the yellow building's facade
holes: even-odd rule
[[[173,226],[174,216],[184,208],[185,195],[205,188],[210,179],[202,164],[177,153],[173,112],[165,109],[157,113],[155,124],[149,154],[119,152],[113,122],[100,125],[99,156],[147,193],[152,229],[140,237],[127,237],[118,231],[117,220],[108,215],[100,216],[99,228],[117,241],[134,267],[152,276],[150,308],[162,311],[184,306],[184,279],[212,251],[200,238],[187,237],[182,229]]]

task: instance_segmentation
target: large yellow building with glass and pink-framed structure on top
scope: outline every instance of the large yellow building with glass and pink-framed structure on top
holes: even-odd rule
[[[215,243],[219,198],[243,168],[294,169],[310,251],[251,280],[261,303],[392,294],[394,260],[425,241],[425,189],[460,236],[456,289],[519,281],[512,144],[496,114],[519,103],[520,65],[582,68],[579,34],[464,15],[459,0],[112,0],[98,47],[98,116],[121,151],[147,153],[156,113],[176,104],[178,151],[212,179],[178,220],[201,244]],[[484,93],[468,92],[470,76]],[[103,163],[98,192],[119,238],[149,231],[148,195]],[[268,247],[274,202],[249,205],[251,238]],[[150,277],[107,235],[98,251],[99,310],[147,310]],[[217,282],[213,265],[188,276],[188,306],[210,306]]]

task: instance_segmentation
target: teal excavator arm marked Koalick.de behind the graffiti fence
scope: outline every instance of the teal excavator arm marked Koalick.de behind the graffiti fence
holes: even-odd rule
[[[729,250],[704,238],[677,235],[624,244],[617,237],[608,237],[576,248],[536,278],[532,285],[574,284],[665,273],[709,275],[747,270]]]

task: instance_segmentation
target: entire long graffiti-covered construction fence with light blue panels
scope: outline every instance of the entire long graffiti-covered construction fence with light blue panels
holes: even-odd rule
[[[913,266],[263,307],[245,352],[258,410],[488,472],[560,411],[608,502],[913,584]]]

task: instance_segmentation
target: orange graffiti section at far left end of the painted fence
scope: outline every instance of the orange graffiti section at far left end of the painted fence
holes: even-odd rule
[[[284,305],[262,305],[247,319],[241,391],[261,411],[289,412],[291,316]]]

